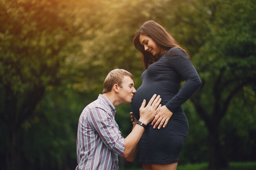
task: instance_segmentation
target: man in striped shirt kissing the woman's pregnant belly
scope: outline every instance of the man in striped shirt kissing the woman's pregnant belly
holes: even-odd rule
[[[161,98],[153,95],[147,106],[144,100],[132,132],[122,137],[115,121],[115,107],[132,102],[136,93],[132,79],[124,69],[110,71],[103,83],[103,94],[83,109],[77,131],[76,170],[119,170],[118,155],[127,161],[134,160],[144,127],[157,114]]]

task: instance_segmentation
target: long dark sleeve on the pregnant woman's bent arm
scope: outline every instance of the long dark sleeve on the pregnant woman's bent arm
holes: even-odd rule
[[[175,54],[175,55],[174,55]],[[189,99],[202,84],[189,57],[179,48],[172,48],[167,52],[168,65],[174,69],[186,82],[180,91],[165,105],[172,113]]]

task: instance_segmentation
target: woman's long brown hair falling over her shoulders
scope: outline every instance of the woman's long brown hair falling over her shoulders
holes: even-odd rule
[[[144,24],[142,24],[139,30],[135,33],[133,43],[135,48],[141,52],[142,64],[146,69],[148,68],[148,66],[150,66],[150,64],[157,62],[159,56],[153,56],[151,53],[144,50],[144,46],[141,45],[139,42],[139,35],[141,34],[152,38],[156,42],[157,46],[166,51],[173,47],[178,47],[182,49],[181,46],[176,42],[176,40],[164,29],[164,27],[157,24],[157,22],[153,20],[144,22]],[[182,51],[184,51],[188,55],[186,50],[182,49]]]

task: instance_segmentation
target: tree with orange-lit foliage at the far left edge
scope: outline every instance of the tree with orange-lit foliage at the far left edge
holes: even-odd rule
[[[60,84],[65,49],[77,31],[72,9],[60,0],[0,1],[1,169],[24,166],[22,124],[46,87]]]

